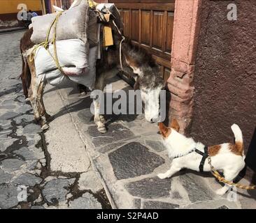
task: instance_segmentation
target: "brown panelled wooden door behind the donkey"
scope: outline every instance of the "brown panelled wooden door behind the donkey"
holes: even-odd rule
[[[161,67],[164,80],[171,73],[171,43],[175,0],[110,0],[120,10],[125,36],[148,50]]]

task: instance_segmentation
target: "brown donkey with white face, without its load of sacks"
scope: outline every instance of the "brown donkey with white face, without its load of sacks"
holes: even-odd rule
[[[120,64],[120,42],[122,36],[118,29],[109,22],[113,30],[114,45],[102,49],[101,59],[96,63],[96,81],[95,90],[104,90],[106,79],[110,79],[118,75],[121,70]],[[43,105],[43,90],[45,87],[45,79],[36,76],[34,61],[29,61],[28,55],[30,49],[34,46],[31,43],[31,34],[33,28],[29,29],[20,40],[20,51],[22,53],[22,86],[24,95],[31,102],[34,111],[34,118],[40,123],[41,128],[46,130],[49,128],[48,121],[50,115],[45,111]],[[136,79],[134,89],[141,90],[141,98],[145,104],[145,119],[150,123],[160,121],[159,116],[159,95],[164,89],[164,81],[160,75],[159,66],[152,59],[152,55],[134,44],[128,38],[125,38],[122,47],[122,66],[123,68],[133,70],[132,76]],[[39,75],[40,76],[40,75]],[[99,100],[94,99],[94,123],[101,133],[106,132],[104,116],[100,114]]]

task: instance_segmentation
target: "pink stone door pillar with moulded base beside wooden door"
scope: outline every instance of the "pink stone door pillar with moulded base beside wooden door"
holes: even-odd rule
[[[180,123],[181,131],[190,125],[194,87],[194,63],[200,30],[201,0],[176,1],[171,51],[171,75],[167,80],[171,92],[170,113]]]

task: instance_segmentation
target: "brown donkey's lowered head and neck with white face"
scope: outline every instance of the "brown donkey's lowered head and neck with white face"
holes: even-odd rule
[[[136,74],[134,89],[141,90],[141,98],[145,104],[145,119],[150,123],[161,121],[160,92],[164,89],[164,80],[160,75],[159,66],[142,47],[124,43],[125,61]]]

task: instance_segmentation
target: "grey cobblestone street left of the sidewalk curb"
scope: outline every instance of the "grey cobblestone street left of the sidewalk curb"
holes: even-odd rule
[[[45,132],[34,123],[30,102],[24,100],[17,78],[22,35],[0,35],[0,208],[111,208],[84,144],[73,143],[85,157],[81,156],[80,168],[73,167],[75,171],[55,169],[55,161],[51,163]],[[58,137],[52,143],[58,143]],[[66,154],[66,160],[69,157]]]

